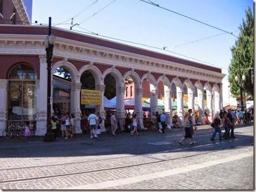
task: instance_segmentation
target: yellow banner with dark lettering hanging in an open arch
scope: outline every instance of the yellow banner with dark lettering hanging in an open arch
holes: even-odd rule
[[[81,89],[81,105],[100,105],[101,91]]]

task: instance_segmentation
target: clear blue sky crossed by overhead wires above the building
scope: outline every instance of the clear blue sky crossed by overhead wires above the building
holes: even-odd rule
[[[252,0],[33,0],[32,25],[48,25],[51,16],[52,27],[215,66],[227,88],[248,6],[253,13]]]

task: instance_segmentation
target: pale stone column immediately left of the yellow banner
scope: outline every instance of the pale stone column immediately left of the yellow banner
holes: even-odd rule
[[[81,126],[81,111],[80,111],[80,91],[82,83],[72,83],[72,95],[70,97],[70,107],[75,116],[75,133],[82,133]]]

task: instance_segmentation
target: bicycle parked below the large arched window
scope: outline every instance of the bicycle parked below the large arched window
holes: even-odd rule
[[[3,138],[10,139],[13,134],[19,136],[22,139],[25,139],[25,128],[23,125],[20,124],[13,124],[11,123],[8,128],[4,129],[3,131]]]

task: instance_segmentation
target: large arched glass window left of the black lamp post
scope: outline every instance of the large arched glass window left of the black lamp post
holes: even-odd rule
[[[16,64],[8,75],[8,120],[35,120],[37,74],[25,63]]]

